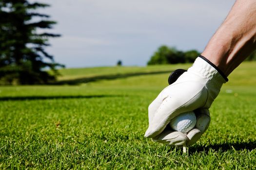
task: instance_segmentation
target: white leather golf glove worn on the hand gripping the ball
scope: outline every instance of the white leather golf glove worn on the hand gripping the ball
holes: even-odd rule
[[[213,63],[199,55],[193,66],[163,89],[149,105],[149,127],[145,137],[169,145],[194,144],[207,130],[210,123],[208,109],[227,81]],[[196,127],[188,133],[173,131],[168,125],[170,120],[188,111],[196,113]]]

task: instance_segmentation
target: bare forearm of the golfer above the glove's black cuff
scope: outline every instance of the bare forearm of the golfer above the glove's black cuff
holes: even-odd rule
[[[228,76],[256,49],[256,0],[236,0],[202,55]]]

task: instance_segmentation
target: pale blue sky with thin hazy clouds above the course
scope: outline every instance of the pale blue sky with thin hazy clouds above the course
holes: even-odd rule
[[[35,1],[35,0],[30,0]],[[145,66],[160,45],[202,51],[235,0],[37,0],[58,22],[46,51],[67,68]]]

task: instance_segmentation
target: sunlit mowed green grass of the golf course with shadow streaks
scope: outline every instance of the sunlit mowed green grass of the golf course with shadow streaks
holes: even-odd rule
[[[0,86],[0,169],[256,169],[256,62],[229,76],[188,155],[143,137],[148,105],[189,66],[63,69],[59,85]]]

